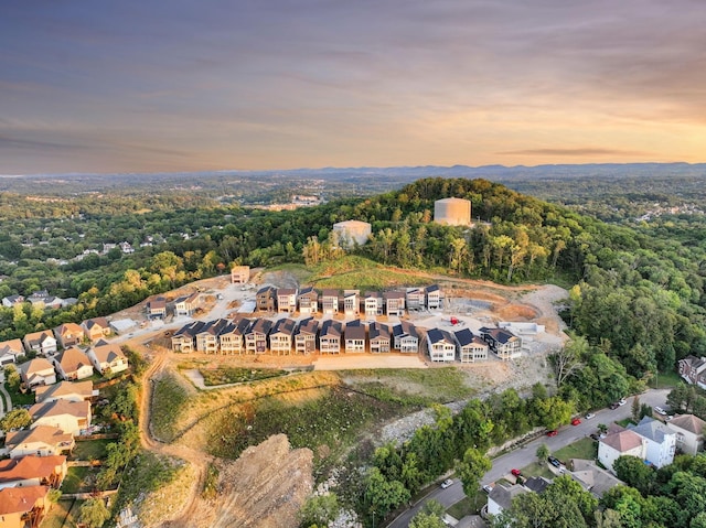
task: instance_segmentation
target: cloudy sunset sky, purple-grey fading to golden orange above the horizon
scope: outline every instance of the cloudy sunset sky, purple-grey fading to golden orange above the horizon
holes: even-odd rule
[[[0,174],[706,161],[703,0],[2,0]]]

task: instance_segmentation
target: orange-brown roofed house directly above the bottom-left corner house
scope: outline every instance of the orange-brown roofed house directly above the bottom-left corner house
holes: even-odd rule
[[[50,486],[57,489],[66,476],[66,456],[29,455],[0,461],[0,489]]]

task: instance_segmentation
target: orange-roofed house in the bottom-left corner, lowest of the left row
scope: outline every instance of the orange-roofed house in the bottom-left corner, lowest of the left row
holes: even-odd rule
[[[49,486],[7,487],[0,489],[2,528],[36,528],[52,508]]]

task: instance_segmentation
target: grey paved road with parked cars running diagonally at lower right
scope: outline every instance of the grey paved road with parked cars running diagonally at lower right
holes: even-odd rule
[[[668,389],[650,389],[646,392],[640,395],[640,401],[642,403],[649,403],[650,406],[660,406],[666,408],[666,396],[670,392]],[[536,461],[536,451],[539,444],[547,444],[550,452],[558,451],[559,449],[576,442],[582,438],[586,438],[590,433],[597,431],[599,423],[609,424],[616,420],[622,420],[630,417],[632,413],[632,400],[628,398],[624,406],[618,409],[602,409],[596,411],[596,417],[590,420],[581,420],[579,425],[565,425],[559,429],[559,433],[556,437],[541,437],[532,442],[525,444],[523,448],[506,453],[498,459],[493,460],[493,467],[485,473],[481,484],[492,484],[499,478],[506,476],[513,467],[522,468],[527,464]],[[395,520],[393,520],[389,528],[407,528],[411,518],[419,513],[424,507],[424,504],[429,499],[436,499],[447,508],[464,497],[463,488],[458,478],[453,479],[453,485],[447,489],[437,487],[419,500],[413,508],[408,509]]]

